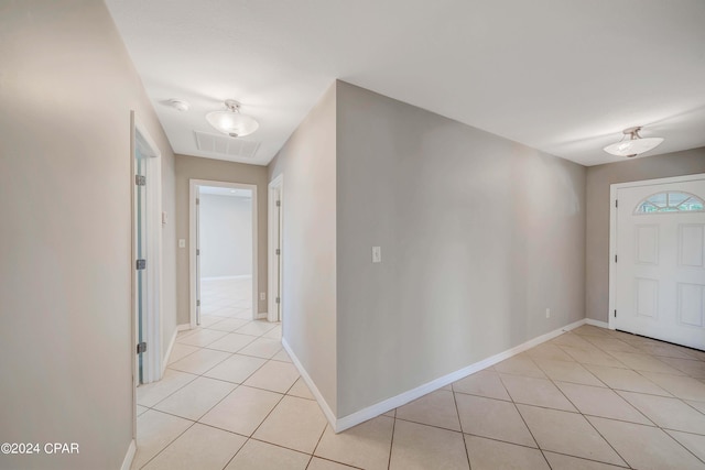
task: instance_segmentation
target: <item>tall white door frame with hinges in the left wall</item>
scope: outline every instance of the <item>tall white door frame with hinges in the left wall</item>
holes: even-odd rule
[[[137,149],[148,155],[147,174],[150,176],[147,187],[147,252],[149,255],[147,270],[148,310],[143,318],[143,339],[148,343],[142,356],[144,383],[154,382],[162,376],[162,153],[150,135],[144,123],[135,111],[130,111],[130,214],[131,214],[131,253],[130,253],[130,323],[132,340],[130,345],[130,362],[132,363],[132,403],[137,417],[137,387],[139,383],[139,338],[138,319],[138,276],[137,276],[137,211],[135,204],[135,152]],[[133,437],[137,436],[137,418]]]

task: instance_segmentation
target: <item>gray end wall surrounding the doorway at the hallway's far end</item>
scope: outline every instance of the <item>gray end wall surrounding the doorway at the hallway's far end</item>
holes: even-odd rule
[[[191,286],[188,278],[188,181],[242,183],[257,185],[257,252],[259,292],[267,292],[267,167],[225,162],[223,160],[176,155],[176,238],[185,239],[187,248],[176,252],[177,320],[189,323]],[[259,297],[258,297],[259,298]],[[267,311],[267,300],[258,302],[258,311]]]

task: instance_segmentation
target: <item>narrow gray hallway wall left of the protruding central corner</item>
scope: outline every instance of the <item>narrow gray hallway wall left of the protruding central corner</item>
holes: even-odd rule
[[[330,87],[270,163],[283,173],[283,336],[335,413],[336,91]]]

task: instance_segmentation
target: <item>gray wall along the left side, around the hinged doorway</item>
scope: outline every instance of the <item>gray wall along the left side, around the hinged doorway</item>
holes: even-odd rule
[[[0,10],[0,441],[80,446],[0,468],[118,469],[133,425],[130,110],[162,151],[167,211],[173,154],[102,2]]]

